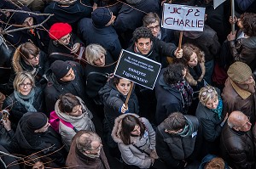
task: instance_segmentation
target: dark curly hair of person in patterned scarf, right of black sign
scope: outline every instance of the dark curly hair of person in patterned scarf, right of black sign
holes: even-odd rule
[[[182,63],[168,65],[163,73],[165,82],[170,85],[182,81],[184,76],[183,70],[185,70],[185,65]]]

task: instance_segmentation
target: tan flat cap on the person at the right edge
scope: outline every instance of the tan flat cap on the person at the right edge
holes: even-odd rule
[[[253,72],[251,68],[243,62],[235,62],[230,65],[228,76],[234,82],[246,82]]]

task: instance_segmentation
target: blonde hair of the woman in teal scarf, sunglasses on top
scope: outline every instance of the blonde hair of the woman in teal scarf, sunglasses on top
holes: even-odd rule
[[[201,90],[199,92],[199,101],[201,102],[201,104],[206,105],[210,99],[214,99],[215,97],[218,98],[218,93],[214,87],[201,87]]]

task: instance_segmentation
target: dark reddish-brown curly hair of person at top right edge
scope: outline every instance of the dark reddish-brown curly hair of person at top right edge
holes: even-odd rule
[[[242,31],[249,37],[256,37],[256,14],[241,14]]]

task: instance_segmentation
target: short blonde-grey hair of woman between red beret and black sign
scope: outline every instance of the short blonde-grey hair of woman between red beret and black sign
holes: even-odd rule
[[[101,54],[107,54],[107,51],[99,44],[90,44],[85,48],[85,58],[91,65],[95,65],[93,61],[99,59]]]

